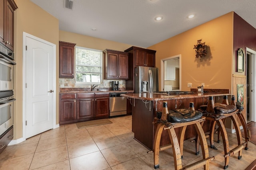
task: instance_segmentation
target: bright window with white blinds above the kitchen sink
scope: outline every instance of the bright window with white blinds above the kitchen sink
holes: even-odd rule
[[[102,82],[102,51],[76,47],[76,83]]]

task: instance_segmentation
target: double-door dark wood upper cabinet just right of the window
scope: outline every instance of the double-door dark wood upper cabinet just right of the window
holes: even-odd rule
[[[128,79],[129,54],[110,49],[106,49],[103,53],[105,58],[105,79]]]

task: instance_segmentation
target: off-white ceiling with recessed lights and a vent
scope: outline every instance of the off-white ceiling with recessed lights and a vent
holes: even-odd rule
[[[256,28],[256,0],[30,0],[58,18],[60,30],[149,47],[234,11]],[[188,15],[195,17],[188,19]],[[162,21],[155,21],[163,16]],[[92,31],[96,28],[96,31]]]

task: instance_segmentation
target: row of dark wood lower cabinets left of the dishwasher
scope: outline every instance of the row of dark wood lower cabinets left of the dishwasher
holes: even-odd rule
[[[109,93],[60,94],[59,124],[109,117]]]

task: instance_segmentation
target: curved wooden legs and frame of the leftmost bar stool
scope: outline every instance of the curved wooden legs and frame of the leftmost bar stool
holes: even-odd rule
[[[204,170],[209,170],[209,162],[214,159],[214,157],[209,158],[209,152],[208,152],[208,144],[206,141],[206,137],[204,135],[204,130],[202,129],[202,122],[205,121],[205,117],[202,117],[200,119],[185,122],[185,123],[170,123],[168,121],[163,121],[162,119],[157,119],[157,129],[155,133],[154,138],[154,168],[159,168],[159,152],[160,150],[164,150],[167,148],[172,147],[173,155],[174,155],[174,165],[175,170],[181,170],[181,169],[196,169],[200,166],[204,166]],[[184,141],[184,135],[186,131],[186,127],[188,125],[194,125],[196,132],[198,134],[198,138],[201,143],[202,148],[202,155],[203,159],[195,162],[191,165],[188,165],[184,168],[182,168],[182,155],[183,155],[183,141]],[[180,141],[178,141],[178,137],[176,136],[175,128],[182,127],[182,130],[180,132]],[[170,137],[171,145],[169,147],[160,147],[160,139],[163,130],[168,130],[168,134]]]

